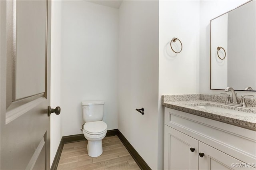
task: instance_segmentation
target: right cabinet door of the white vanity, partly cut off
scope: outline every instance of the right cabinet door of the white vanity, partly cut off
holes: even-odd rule
[[[255,164],[253,164],[254,162],[250,162],[251,164],[245,164],[244,162],[241,162],[240,160],[202,142],[199,142],[199,149],[200,153],[204,153],[203,157],[199,157],[200,170],[255,170],[255,168],[252,167],[255,167]]]

